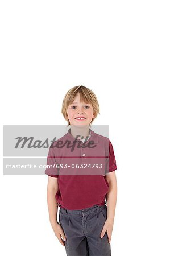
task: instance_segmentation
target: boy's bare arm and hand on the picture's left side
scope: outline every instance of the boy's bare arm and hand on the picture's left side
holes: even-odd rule
[[[49,212],[49,221],[51,223],[55,236],[58,238],[61,245],[65,246],[65,243],[63,240],[66,240],[66,237],[59,222],[57,222],[58,205],[57,205],[55,195],[58,189],[59,189],[58,178],[48,176],[47,204],[48,204],[48,212]],[[61,239],[61,237],[63,238],[63,240]]]

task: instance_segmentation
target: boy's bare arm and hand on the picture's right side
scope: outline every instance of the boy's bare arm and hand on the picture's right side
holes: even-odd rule
[[[115,176],[115,171],[109,172],[106,175],[106,180],[109,183],[109,192],[106,195],[107,218],[101,232],[101,238],[105,235],[105,232],[107,232],[108,240],[110,243],[114,224],[115,207],[117,203],[117,179]]]

